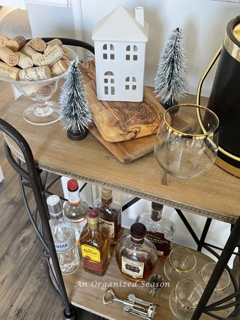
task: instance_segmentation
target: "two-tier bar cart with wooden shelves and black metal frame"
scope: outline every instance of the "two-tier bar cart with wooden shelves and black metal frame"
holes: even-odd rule
[[[44,41],[50,41],[53,38],[43,39]],[[60,40],[65,45],[81,46],[94,54],[94,48],[89,44],[72,39],[60,38]],[[58,100],[58,94],[57,91],[52,97],[55,101]],[[110,283],[123,280],[116,268],[114,257],[112,257],[104,278],[96,279],[89,274],[86,275],[81,267],[76,273],[68,276],[62,276],[60,272],[48,222],[49,213],[45,196],[46,194],[52,194],[49,189],[54,182],[61,176],[66,176],[84,181],[84,186],[91,183],[134,196],[133,200],[124,205],[123,214],[125,209],[139,199],[174,207],[197,244],[195,253],[200,264],[204,264],[210,259],[201,253],[202,248],[207,249],[219,259],[192,319],[198,320],[202,315],[201,319],[207,319],[208,316],[220,320],[239,319],[239,284],[227,263],[234,249],[236,247],[240,249],[240,207],[238,201],[240,180],[223,171],[217,165],[213,165],[208,172],[198,178],[178,179],[166,174],[159,168],[153,153],[128,164],[120,163],[92,134],[89,134],[85,140],[76,142],[67,139],[66,132],[62,130],[58,123],[47,126],[33,126],[26,123],[21,115],[29,103],[30,101],[26,97],[21,96],[12,104],[9,104],[5,120],[0,119],[0,129],[4,132],[6,157],[19,174],[24,204],[37,237],[43,246],[46,275],[54,293],[63,302],[63,318],[66,320],[76,319],[74,305],[107,319],[120,320],[123,318],[121,307],[113,309],[112,306],[102,305],[101,299],[104,287],[103,285],[95,285],[95,282]],[[15,161],[12,153],[17,156],[17,161]],[[26,163],[27,171],[23,169],[21,162]],[[41,179],[40,176],[42,171],[45,172],[44,179]],[[59,175],[49,185],[47,185],[48,172]],[[29,210],[25,187],[30,187],[33,190],[36,200],[36,209],[33,213]],[[64,200],[64,198],[62,199]],[[181,210],[207,217],[200,238],[196,236]],[[40,218],[39,228],[37,226],[38,215]],[[231,224],[231,234],[223,249],[205,242],[212,219]],[[222,250],[220,256],[213,250],[214,248]],[[236,255],[240,257],[239,252]],[[114,255],[114,252],[112,252],[112,255]],[[225,268],[231,277],[234,292],[228,298],[208,304],[206,307]],[[164,274],[163,264],[158,264],[156,272]],[[116,295],[124,298],[127,293],[132,293],[130,290],[132,289],[116,288]],[[149,300],[146,297],[146,292],[143,292],[140,287],[136,290],[136,295],[141,299]],[[172,319],[173,317],[168,307],[167,293],[163,297],[161,312],[156,315],[158,319]],[[231,302],[229,302],[230,300]],[[231,311],[229,311],[229,308]],[[223,310],[224,314],[222,315],[224,316],[220,315],[221,310]],[[217,314],[214,313],[216,311]],[[131,316],[131,318],[133,320],[137,319],[136,316]]]

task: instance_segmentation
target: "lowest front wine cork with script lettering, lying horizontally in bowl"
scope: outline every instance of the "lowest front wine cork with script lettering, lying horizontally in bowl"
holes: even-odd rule
[[[47,66],[26,68],[19,71],[21,81],[45,80],[51,77],[50,69]]]

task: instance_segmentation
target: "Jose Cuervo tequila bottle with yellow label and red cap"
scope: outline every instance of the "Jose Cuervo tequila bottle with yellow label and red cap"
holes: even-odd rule
[[[110,260],[110,230],[108,226],[99,223],[96,209],[88,211],[87,221],[79,239],[84,270],[103,276]]]

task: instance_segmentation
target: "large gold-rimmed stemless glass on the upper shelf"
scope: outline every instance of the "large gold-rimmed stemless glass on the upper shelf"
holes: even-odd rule
[[[154,152],[159,165],[179,178],[193,178],[214,163],[219,146],[219,120],[195,104],[169,108],[159,125]]]

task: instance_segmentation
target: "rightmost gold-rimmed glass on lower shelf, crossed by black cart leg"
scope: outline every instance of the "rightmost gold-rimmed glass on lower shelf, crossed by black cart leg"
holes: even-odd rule
[[[208,281],[212,275],[213,269],[216,266],[216,262],[210,262],[205,264],[205,266],[201,269],[201,271],[197,275],[197,280],[201,284],[201,286],[205,289]],[[210,302],[216,302],[221,300],[228,295],[228,290],[230,287],[231,278],[229,276],[228,271],[225,269],[219,279],[216,288],[212,292],[212,296],[209,299]]]

